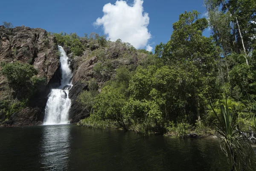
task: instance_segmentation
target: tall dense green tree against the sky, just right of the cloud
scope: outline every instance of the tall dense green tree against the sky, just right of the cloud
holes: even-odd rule
[[[205,18],[198,18],[199,14],[197,11],[180,14],[179,20],[173,24],[170,40],[166,44],[157,45],[155,54],[165,64],[177,66],[181,69],[180,73],[187,74],[183,77],[183,88],[179,92],[183,95],[179,99],[187,100],[181,100],[183,102],[180,101],[180,105],[190,106],[190,111],[195,106],[193,110],[196,110],[200,120],[200,113],[205,113],[207,108],[208,97],[214,93],[219,51],[211,37],[202,35],[208,22]],[[186,107],[182,108],[185,111]]]

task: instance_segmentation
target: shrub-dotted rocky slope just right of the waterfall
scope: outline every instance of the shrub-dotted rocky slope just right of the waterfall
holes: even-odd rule
[[[74,85],[69,92],[69,97],[72,101],[70,109],[71,122],[79,122],[79,120],[89,116],[89,111],[79,103],[78,96],[84,90],[88,90],[88,82],[92,78],[96,79],[100,91],[107,81],[114,79],[115,70],[119,66],[137,67],[138,60],[136,53],[130,52],[126,46],[115,42],[110,43],[110,45],[108,48],[101,47],[101,50],[105,53],[105,60],[99,59],[97,55],[90,57],[86,51],[84,52],[84,56],[73,58],[73,66],[75,68],[73,70],[72,83]],[[99,48],[98,45],[96,46]],[[100,73],[94,70],[97,64],[102,65]],[[108,66],[111,66],[111,68],[108,68]]]

